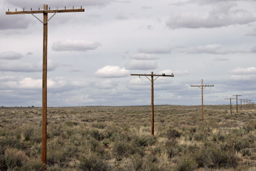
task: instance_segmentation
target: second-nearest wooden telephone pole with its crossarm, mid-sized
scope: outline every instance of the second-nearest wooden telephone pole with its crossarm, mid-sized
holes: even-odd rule
[[[172,75],[157,75],[151,72],[151,74],[131,74],[131,76],[145,76],[148,80],[151,81],[151,135],[154,136],[154,81],[158,77],[174,77],[174,74],[172,73]],[[147,76],[151,76],[151,79]],[[156,78],[154,79],[154,77]]]

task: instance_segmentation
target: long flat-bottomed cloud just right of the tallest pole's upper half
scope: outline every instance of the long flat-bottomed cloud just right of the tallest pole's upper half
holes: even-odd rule
[[[97,49],[100,46],[99,42],[89,40],[70,40],[55,41],[52,44],[54,51],[88,51]]]

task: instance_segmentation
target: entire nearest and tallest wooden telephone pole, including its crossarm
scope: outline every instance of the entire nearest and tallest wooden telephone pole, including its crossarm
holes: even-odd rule
[[[44,20],[41,21],[39,18],[36,17],[42,24],[43,24],[43,47],[42,47],[42,156],[41,160],[42,163],[46,163],[47,160],[47,37],[48,37],[48,22],[49,20],[56,14],[56,13],[62,13],[62,12],[84,12],[84,9],[82,7],[80,9],[62,9],[59,10],[58,8],[56,10],[51,10],[50,7],[48,9],[48,5],[44,5],[44,9],[40,10],[31,10],[25,11],[8,11],[6,12],[7,15],[9,14],[31,14],[34,17],[36,17],[34,14],[43,14]],[[48,13],[54,13],[49,19],[48,19]],[[46,168],[45,168],[46,169]]]

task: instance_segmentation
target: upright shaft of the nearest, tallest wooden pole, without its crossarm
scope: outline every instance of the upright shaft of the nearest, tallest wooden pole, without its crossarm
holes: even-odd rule
[[[44,10],[48,10],[48,5],[44,5]],[[44,35],[42,50],[42,163],[46,164],[47,154],[47,33],[48,33],[48,13],[44,13]]]

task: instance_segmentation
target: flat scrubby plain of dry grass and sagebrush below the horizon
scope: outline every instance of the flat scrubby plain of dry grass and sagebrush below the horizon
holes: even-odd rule
[[[256,170],[256,110],[48,108],[47,170]],[[0,108],[0,170],[40,170],[41,108]]]

